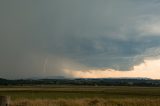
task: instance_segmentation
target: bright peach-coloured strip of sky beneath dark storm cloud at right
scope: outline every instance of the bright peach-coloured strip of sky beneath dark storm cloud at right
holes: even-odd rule
[[[131,70],[121,71],[114,69],[92,69],[92,70],[68,70],[64,72],[75,78],[160,78],[160,59],[145,60],[144,63],[134,66]]]

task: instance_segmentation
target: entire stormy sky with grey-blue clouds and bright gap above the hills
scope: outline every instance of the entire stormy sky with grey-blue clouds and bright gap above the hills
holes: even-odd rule
[[[0,0],[0,77],[160,79],[159,0]]]

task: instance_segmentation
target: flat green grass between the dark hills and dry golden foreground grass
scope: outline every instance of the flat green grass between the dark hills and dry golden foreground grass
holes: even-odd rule
[[[0,95],[15,99],[160,98],[159,87],[28,86],[1,87]]]

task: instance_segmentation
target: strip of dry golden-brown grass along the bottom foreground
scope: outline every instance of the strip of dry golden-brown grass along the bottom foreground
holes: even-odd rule
[[[160,106],[160,99],[18,99],[11,106]]]

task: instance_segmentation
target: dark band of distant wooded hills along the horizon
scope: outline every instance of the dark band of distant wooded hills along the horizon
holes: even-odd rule
[[[160,80],[149,78],[65,78],[63,76],[34,77],[7,80],[0,78],[0,85],[87,85],[87,86],[158,86]]]

